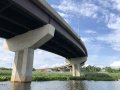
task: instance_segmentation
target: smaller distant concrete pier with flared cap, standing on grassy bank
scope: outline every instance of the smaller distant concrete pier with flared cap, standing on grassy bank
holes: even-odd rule
[[[70,63],[72,65],[72,75],[73,76],[80,76],[80,67],[83,65],[83,63],[87,60],[87,57],[80,57],[80,58],[72,58],[72,59],[66,59],[67,63]]]

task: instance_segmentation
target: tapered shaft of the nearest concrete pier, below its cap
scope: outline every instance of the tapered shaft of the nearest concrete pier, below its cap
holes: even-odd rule
[[[15,52],[12,82],[30,82],[32,80],[34,50],[27,48]]]

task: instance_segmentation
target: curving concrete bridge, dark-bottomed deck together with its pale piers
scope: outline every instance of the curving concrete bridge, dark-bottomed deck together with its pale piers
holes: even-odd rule
[[[80,65],[87,60],[81,39],[45,0],[0,0],[0,37],[15,52],[13,82],[31,81],[37,48],[65,57],[73,76],[80,76]]]

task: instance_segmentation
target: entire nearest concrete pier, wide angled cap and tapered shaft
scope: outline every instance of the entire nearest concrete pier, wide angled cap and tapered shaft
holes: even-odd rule
[[[34,49],[39,48],[54,37],[55,28],[47,24],[41,28],[7,39],[4,47],[15,52],[12,82],[30,82]]]

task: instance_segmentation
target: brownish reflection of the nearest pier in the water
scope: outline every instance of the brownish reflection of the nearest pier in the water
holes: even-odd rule
[[[11,83],[10,90],[31,90],[31,83]]]

